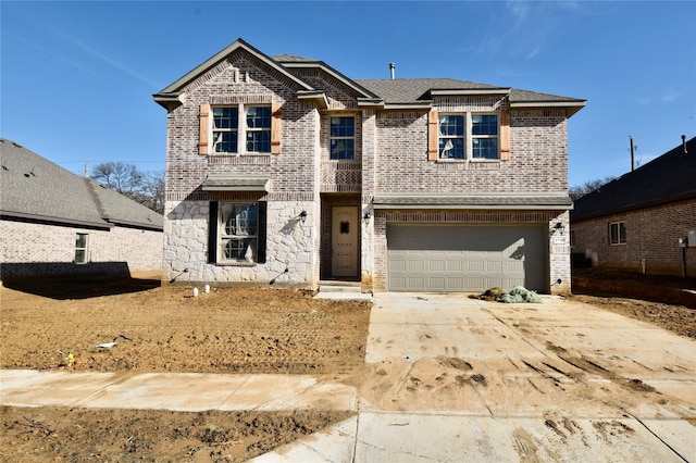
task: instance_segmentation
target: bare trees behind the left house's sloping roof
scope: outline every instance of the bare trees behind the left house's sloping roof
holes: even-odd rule
[[[91,178],[160,214],[164,212],[164,172],[145,174],[134,164],[104,162],[92,168]]]

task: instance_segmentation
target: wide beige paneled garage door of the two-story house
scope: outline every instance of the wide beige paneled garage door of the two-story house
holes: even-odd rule
[[[389,291],[546,290],[539,226],[388,225]]]

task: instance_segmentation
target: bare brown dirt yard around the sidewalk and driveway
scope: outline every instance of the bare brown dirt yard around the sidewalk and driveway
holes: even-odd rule
[[[693,309],[573,298],[696,338]],[[351,385],[366,374],[365,302],[289,289],[194,298],[189,287],[140,278],[5,284],[0,304],[2,368],[311,374]],[[2,408],[0,415],[7,462],[246,461],[348,416],[67,408]]]

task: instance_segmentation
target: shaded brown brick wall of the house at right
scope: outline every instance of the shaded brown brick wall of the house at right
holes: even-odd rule
[[[624,222],[626,242],[610,245],[609,224]],[[679,239],[696,228],[696,201],[679,201],[621,214],[575,222],[573,252],[583,253],[594,266],[651,275],[696,275],[696,248],[680,248]],[[682,252],[684,254],[682,254]]]

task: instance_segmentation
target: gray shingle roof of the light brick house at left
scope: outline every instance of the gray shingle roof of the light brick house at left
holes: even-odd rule
[[[109,228],[162,229],[162,215],[83,178],[8,139],[0,139],[0,215]]]

